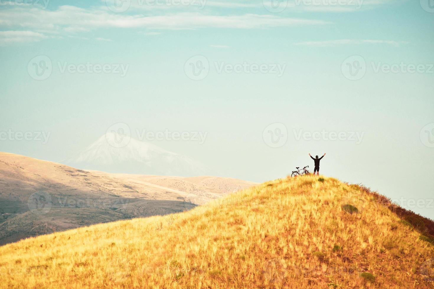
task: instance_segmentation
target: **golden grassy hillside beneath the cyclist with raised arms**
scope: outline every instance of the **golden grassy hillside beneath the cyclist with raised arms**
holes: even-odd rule
[[[432,240],[392,207],[332,178],[279,179],[0,247],[0,288],[432,288]]]

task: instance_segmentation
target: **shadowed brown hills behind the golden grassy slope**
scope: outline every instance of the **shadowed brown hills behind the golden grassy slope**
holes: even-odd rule
[[[0,245],[92,224],[186,211],[253,185],[211,176],[85,171],[0,152]]]

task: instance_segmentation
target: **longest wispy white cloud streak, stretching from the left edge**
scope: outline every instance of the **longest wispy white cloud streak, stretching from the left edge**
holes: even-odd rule
[[[82,32],[99,28],[200,29],[238,28],[261,29],[300,25],[323,25],[315,19],[287,18],[275,15],[208,15],[176,13],[161,16],[126,15],[104,10],[87,10],[75,6],[60,6],[58,10],[14,9],[0,12],[0,26],[26,27],[55,32]]]

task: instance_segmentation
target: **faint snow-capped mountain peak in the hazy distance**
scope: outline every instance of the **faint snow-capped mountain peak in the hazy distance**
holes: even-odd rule
[[[105,134],[61,163],[79,169],[138,175],[209,175],[210,169],[193,159],[131,138],[118,147],[123,136]]]

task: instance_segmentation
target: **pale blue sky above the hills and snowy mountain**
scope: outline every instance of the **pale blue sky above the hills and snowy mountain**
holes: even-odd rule
[[[365,0],[358,8],[351,0],[341,6],[297,0],[282,2],[281,12],[267,1],[208,0],[199,9],[144,0],[123,12],[105,1],[16,5],[21,3],[0,6],[0,132],[51,134],[46,144],[0,140],[1,151],[59,162],[114,123],[127,123],[133,137],[136,129],[204,131],[204,144],[153,143],[216,174],[257,182],[284,177],[296,166],[313,167],[308,153],[327,153],[325,175],[392,199],[424,200],[412,209],[434,218],[434,135],[421,138],[434,123],[432,1]],[[31,71],[39,55],[53,67],[40,81]],[[195,55],[210,65],[196,81],[184,69]],[[342,70],[352,55],[365,61],[358,80]],[[62,72],[66,62],[128,69],[125,76]],[[244,62],[286,66],[280,77],[217,71],[221,64]],[[378,63],[401,62],[424,71],[375,72]],[[263,137],[272,123],[288,131],[277,148]],[[364,134],[356,144],[297,140],[293,130]]]

